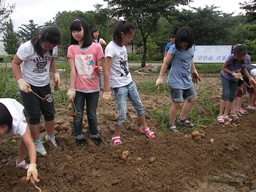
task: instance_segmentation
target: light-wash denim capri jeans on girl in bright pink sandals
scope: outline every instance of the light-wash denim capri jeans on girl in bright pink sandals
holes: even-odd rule
[[[127,99],[131,101],[137,116],[144,114],[143,104],[141,102],[136,84],[133,81],[122,87],[111,88],[111,91],[115,99],[118,118],[115,125],[121,126],[124,123],[127,112]]]

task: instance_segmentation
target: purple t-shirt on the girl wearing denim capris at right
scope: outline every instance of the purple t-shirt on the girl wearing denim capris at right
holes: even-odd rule
[[[239,73],[241,72],[241,69],[245,66],[245,65],[249,65],[251,64],[251,57],[246,54],[245,58],[244,58],[244,63],[240,63],[239,61],[236,61],[235,65],[233,65],[233,60],[234,60],[234,54],[230,54],[230,56],[227,57],[227,62],[228,62],[228,66],[227,69],[230,70],[231,72],[235,72],[235,73]],[[238,81],[238,79],[234,76],[232,76],[232,74],[228,74],[227,72],[221,70],[221,75],[226,77],[228,80],[230,81]]]

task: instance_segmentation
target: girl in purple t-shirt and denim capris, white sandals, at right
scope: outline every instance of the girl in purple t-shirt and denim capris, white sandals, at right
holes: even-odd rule
[[[232,102],[236,97],[237,92],[237,81],[238,79],[243,80],[241,70],[244,75],[248,77],[250,81],[255,81],[252,76],[246,70],[246,63],[250,60],[250,56],[246,54],[246,47],[243,45],[237,45],[234,49],[234,54],[230,54],[227,60],[222,66],[221,70],[221,84],[222,84],[222,95],[220,99],[220,112],[217,117],[217,121],[220,124],[226,121],[231,122],[232,118],[228,117],[228,111],[232,106]],[[225,111],[223,113],[223,110]]]

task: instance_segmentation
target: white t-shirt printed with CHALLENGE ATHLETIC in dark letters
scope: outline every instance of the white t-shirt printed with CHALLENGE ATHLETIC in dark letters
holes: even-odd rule
[[[31,41],[20,45],[17,56],[22,60],[22,78],[33,86],[45,86],[50,82],[49,68],[52,57],[58,54],[58,47],[52,49],[52,56],[46,51],[44,58],[36,53]]]

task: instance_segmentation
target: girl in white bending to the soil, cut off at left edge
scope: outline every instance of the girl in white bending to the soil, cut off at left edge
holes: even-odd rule
[[[0,139],[14,135],[20,136],[16,166],[28,170],[26,180],[32,176],[36,182],[39,182],[36,170],[36,148],[30,136],[23,109],[24,107],[15,99],[0,99]],[[29,152],[30,164],[26,164],[24,161],[27,152]]]

